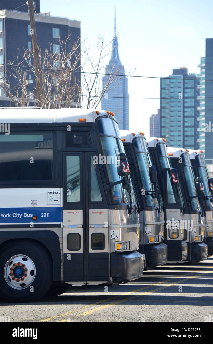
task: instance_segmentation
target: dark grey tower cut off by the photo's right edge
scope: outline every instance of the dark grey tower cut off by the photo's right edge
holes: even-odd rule
[[[205,159],[213,159],[213,38],[206,39],[206,56],[205,56],[205,123],[208,124],[209,130],[205,132]],[[211,122],[211,123],[210,123]],[[211,130],[212,129],[212,130]]]

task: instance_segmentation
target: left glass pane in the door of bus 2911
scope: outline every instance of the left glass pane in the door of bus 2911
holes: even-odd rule
[[[80,157],[68,155],[66,157],[66,200],[80,202]]]

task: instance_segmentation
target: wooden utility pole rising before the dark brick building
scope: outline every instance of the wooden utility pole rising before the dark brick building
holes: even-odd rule
[[[28,4],[29,9],[29,16],[30,16],[30,31],[31,31],[31,37],[32,37],[32,47],[33,47],[33,57],[35,62],[35,67],[41,68],[41,60],[39,56],[39,45],[38,45],[38,39],[35,29],[35,18],[34,18],[34,7],[33,7],[33,0],[28,0],[26,2]],[[37,90],[37,97],[38,97],[38,106],[41,106],[40,104],[40,95],[41,95],[41,85],[42,85],[42,73],[41,69],[36,69],[36,77],[35,77],[35,83],[36,83],[36,90]]]

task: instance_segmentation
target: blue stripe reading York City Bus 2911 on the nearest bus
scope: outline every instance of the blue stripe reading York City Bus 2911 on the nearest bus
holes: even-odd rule
[[[32,217],[37,220],[33,221]],[[62,207],[0,208],[1,223],[62,222]]]

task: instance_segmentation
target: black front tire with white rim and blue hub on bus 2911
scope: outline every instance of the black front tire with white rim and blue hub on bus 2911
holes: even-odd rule
[[[50,254],[38,243],[16,240],[1,248],[0,295],[8,302],[40,299],[52,284]]]

